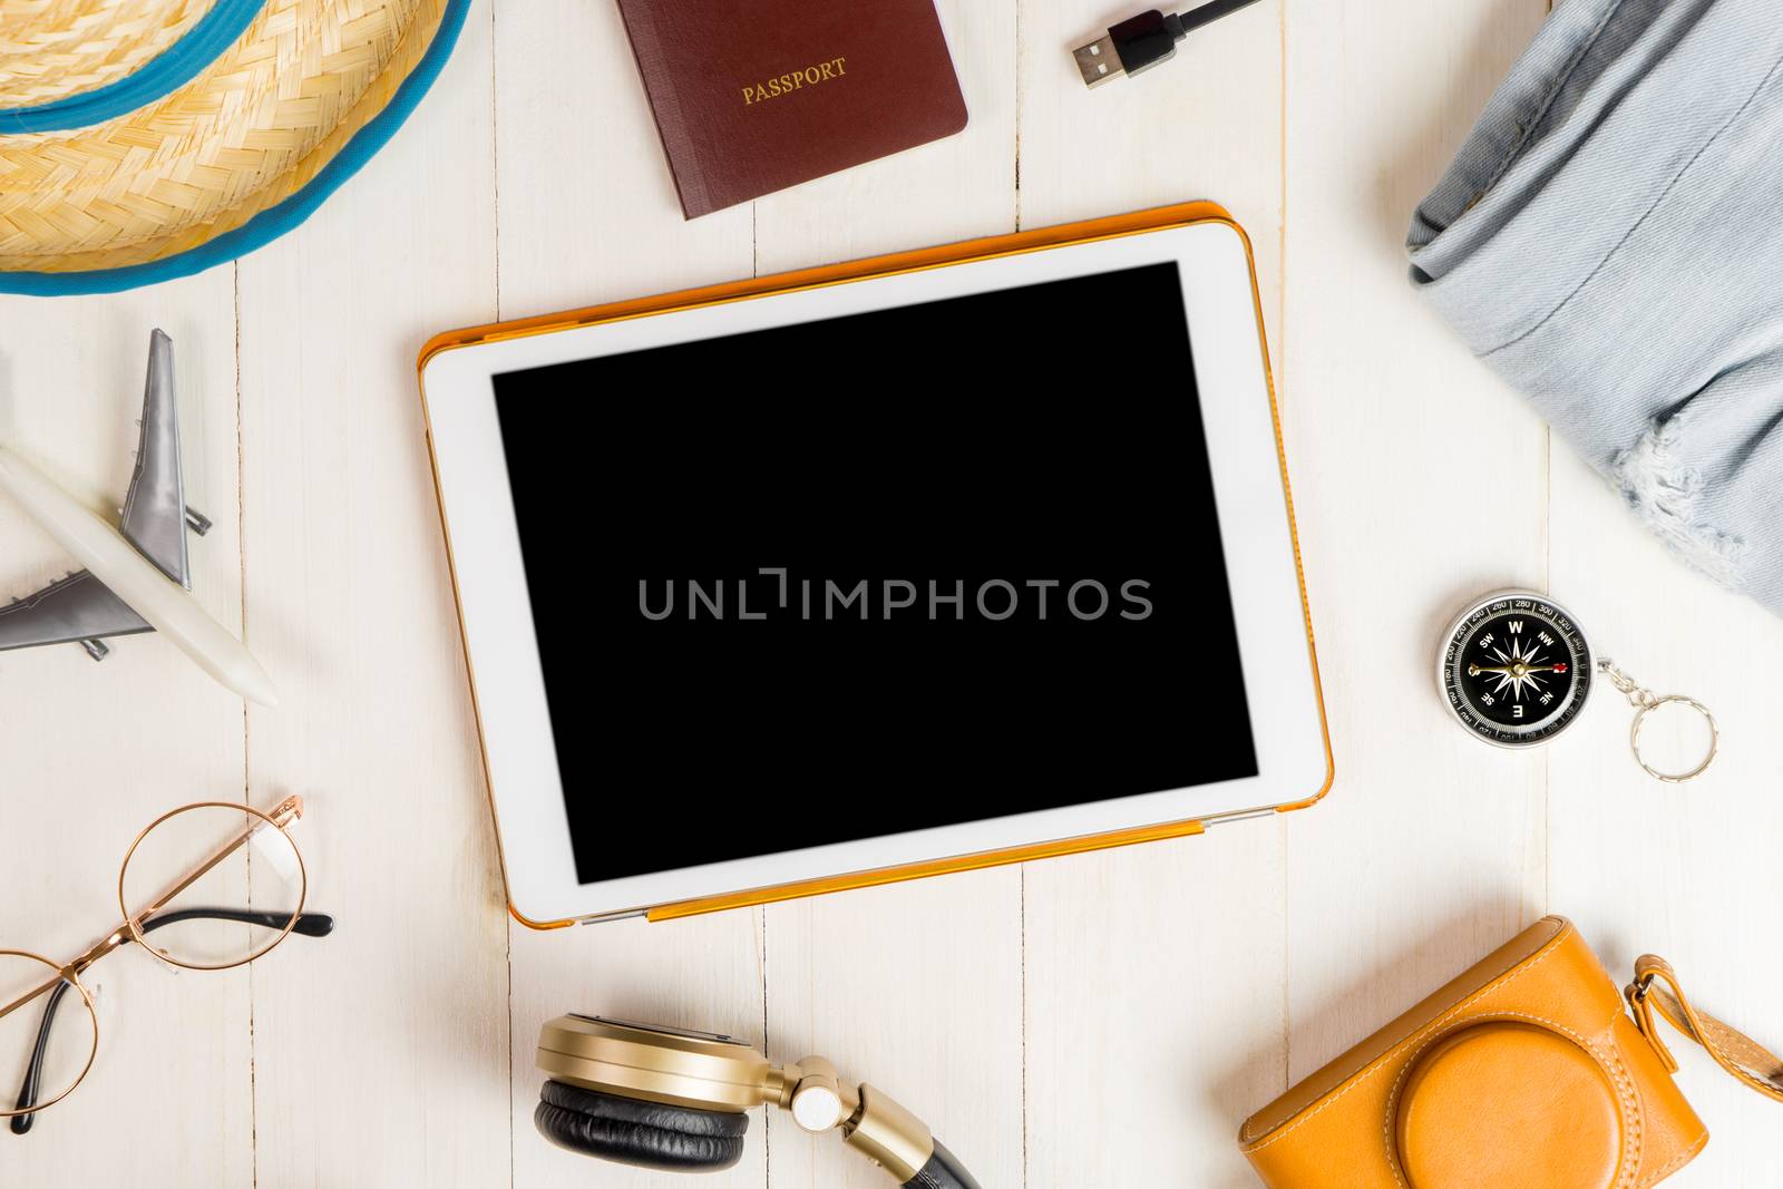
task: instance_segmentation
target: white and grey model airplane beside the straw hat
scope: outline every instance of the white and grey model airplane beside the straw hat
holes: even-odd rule
[[[141,426],[136,474],[119,510],[121,535],[18,451],[0,444],[0,490],[86,565],[0,606],[0,651],[78,644],[102,661],[111,651],[103,642],[111,636],[159,631],[221,685],[275,706],[278,693],[260,663],[191,595],[185,533],[203,537],[210,521],[185,506],[173,340],[159,330],[148,337]]]

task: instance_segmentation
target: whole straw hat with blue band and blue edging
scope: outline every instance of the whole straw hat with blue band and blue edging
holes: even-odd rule
[[[301,223],[469,0],[0,0],[0,292],[98,292]]]

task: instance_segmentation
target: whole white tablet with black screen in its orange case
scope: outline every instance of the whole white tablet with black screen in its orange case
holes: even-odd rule
[[[1330,786],[1252,258],[1214,207],[455,332],[421,385],[524,923]]]

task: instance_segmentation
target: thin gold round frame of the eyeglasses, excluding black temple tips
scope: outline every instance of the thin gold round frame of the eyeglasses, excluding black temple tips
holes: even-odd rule
[[[205,859],[187,868],[185,873],[177,877],[159,897],[153,898],[152,904],[132,913],[128,902],[125,900],[123,884],[125,884],[125,875],[130,870],[130,859],[136,857],[137,847],[141,847],[143,840],[148,838],[157,827],[180,816],[182,813],[191,813],[193,809],[234,809],[242,815],[248,815],[250,818],[259,818],[259,822],[250,822],[248,825],[244,825],[242,831],[232,841],[225,843],[216,852],[212,852]],[[20,1007],[25,1007],[27,1004],[45,995],[50,995],[52,991],[55,991],[57,986],[62,986],[66,982],[68,986],[71,986],[75,991],[80,993],[80,1004],[86,1007],[87,1021],[93,1025],[93,1043],[87,1046],[87,1059],[80,1066],[80,1073],[75,1077],[75,1080],[70,1082],[68,1087],[59,1091],[57,1095],[45,1098],[41,1102],[34,1102],[29,1107],[0,1109],[0,1119],[12,1119],[21,1114],[37,1114],[39,1111],[46,1111],[55,1103],[59,1103],[61,1100],[68,1098],[84,1080],[87,1080],[87,1073],[93,1070],[93,1061],[98,1057],[100,1052],[100,1016],[98,1011],[93,1007],[93,993],[87,991],[84,982],[80,982],[80,975],[86,973],[87,968],[93,966],[93,963],[100,961],[118,947],[128,941],[136,941],[157,961],[166,963],[168,966],[175,966],[178,970],[234,970],[235,966],[246,966],[255,959],[266,957],[271,950],[278,948],[278,945],[282,945],[285,938],[291,936],[291,931],[296,929],[298,920],[303,916],[303,906],[308,900],[308,891],[310,891],[310,875],[308,868],[305,868],[303,865],[303,850],[298,847],[298,841],[291,836],[291,831],[287,829],[292,822],[300,820],[301,816],[303,816],[303,797],[298,795],[285,797],[269,811],[255,809],[253,806],[241,804],[235,800],[194,800],[187,806],[169,809],[168,813],[162,813],[159,818],[144,825],[123,856],[123,865],[118,868],[118,911],[123,913],[123,922],[116,929],[100,938],[80,957],[75,957],[73,961],[61,964],[50,961],[41,954],[32,954],[30,950],[0,950],[0,957],[23,957],[27,961],[43,963],[43,966],[46,966],[52,972],[52,977],[41,986],[27,991],[11,1004],[0,1005],[0,1018],[12,1014]],[[285,922],[285,927],[278,932],[276,938],[273,938],[269,943],[266,943],[266,947],[255,950],[248,957],[237,959],[234,963],[218,963],[218,964],[182,963],[180,959],[162,952],[144,938],[143,922],[146,918],[153,916],[159,909],[162,909],[168,904],[168,900],[171,900],[173,897],[180,895],[194,882],[203,879],[212,868],[216,868],[218,863],[241,850],[257,832],[260,832],[267,825],[283,834],[285,841],[291,843],[291,852],[298,857],[298,904],[291,911],[291,920]]]

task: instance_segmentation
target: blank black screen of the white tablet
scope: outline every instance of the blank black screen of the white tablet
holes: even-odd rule
[[[1175,264],[494,383],[583,882],[1255,775]]]

